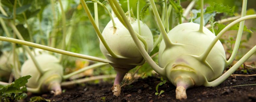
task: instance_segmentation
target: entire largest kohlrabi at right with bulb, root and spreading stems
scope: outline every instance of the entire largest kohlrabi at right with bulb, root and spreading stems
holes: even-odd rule
[[[116,14],[120,14],[120,16],[124,17],[125,13],[118,4],[117,0],[109,1],[112,1],[117,7],[118,13]],[[203,0],[201,0],[200,25],[193,22],[183,23],[174,27],[168,34],[168,31],[165,31],[161,22],[154,0],[149,1],[164,39],[164,41],[161,42],[159,49],[159,66],[154,63],[154,61],[144,50],[142,44],[139,43],[139,39],[136,37],[134,29],[129,23],[129,20],[126,18],[123,19],[124,25],[127,26],[133,40],[136,43],[136,46],[138,46],[145,60],[158,74],[169,79],[170,82],[176,86],[177,99],[187,98],[187,88],[200,85],[219,85],[254,52],[256,52],[256,46],[254,46],[233,67],[221,75],[224,68],[234,60],[241,40],[244,20],[256,18],[256,15],[245,16],[247,0],[243,0],[242,17],[231,22],[217,35],[217,37],[210,30],[203,27]],[[165,3],[167,3],[166,0]],[[218,39],[224,34],[224,32],[238,22],[240,22],[240,26],[235,48],[233,50],[234,52],[232,53],[230,59],[226,61],[225,51]]]

